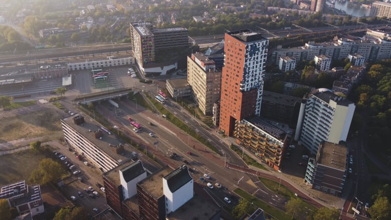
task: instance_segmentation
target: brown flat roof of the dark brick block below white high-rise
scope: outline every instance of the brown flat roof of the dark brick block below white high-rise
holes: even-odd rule
[[[323,142],[319,148],[318,164],[345,171],[348,148],[343,145]]]

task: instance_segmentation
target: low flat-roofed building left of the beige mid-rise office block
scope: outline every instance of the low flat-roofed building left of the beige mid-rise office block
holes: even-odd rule
[[[192,87],[187,82],[187,79],[168,79],[166,80],[166,88],[176,101],[178,98],[190,97],[192,95]]]

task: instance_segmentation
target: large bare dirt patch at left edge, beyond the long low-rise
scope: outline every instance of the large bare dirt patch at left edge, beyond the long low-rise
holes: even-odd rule
[[[43,109],[27,114],[19,114],[0,120],[0,142],[20,138],[43,137],[53,140],[63,136],[60,119],[64,117],[61,110]]]

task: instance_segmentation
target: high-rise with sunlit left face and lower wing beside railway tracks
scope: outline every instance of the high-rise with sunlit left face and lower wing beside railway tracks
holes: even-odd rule
[[[150,22],[130,23],[130,38],[133,55],[144,72],[156,70],[152,68],[145,71],[144,68],[155,67],[153,64],[157,50],[189,46],[189,34],[186,28],[153,29]],[[173,67],[169,65],[166,67],[167,69],[164,69],[164,72]]]

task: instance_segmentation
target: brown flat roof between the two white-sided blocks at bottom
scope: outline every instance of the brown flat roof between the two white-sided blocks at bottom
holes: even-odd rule
[[[172,168],[166,165],[137,184],[152,194],[153,197],[159,198],[163,195],[163,176],[167,176],[173,171]]]

